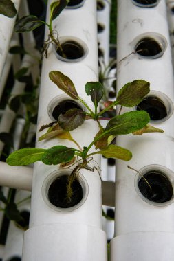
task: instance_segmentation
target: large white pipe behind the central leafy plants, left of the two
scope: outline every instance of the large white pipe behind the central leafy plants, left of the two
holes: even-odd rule
[[[48,1],[50,6],[50,1]],[[49,12],[49,8],[48,8]],[[70,20],[69,20],[70,19]],[[71,21],[71,26],[69,26]],[[88,22],[87,22],[88,21]],[[72,79],[78,95],[89,106],[93,106],[91,99],[85,95],[85,84],[88,81],[98,80],[97,38],[96,38],[96,2],[85,1],[82,8],[63,10],[54,21],[54,27],[59,36],[74,36],[80,38],[88,47],[88,54],[78,63],[65,63],[56,58],[53,46],[50,46],[48,58],[43,59],[41,75],[41,91],[39,101],[38,129],[50,122],[47,115],[49,102],[57,95],[63,94],[51,82],[48,74],[58,70]],[[45,32],[47,38],[47,30]],[[90,130],[90,135],[89,135]],[[85,122],[82,126],[72,131],[72,136],[80,146],[91,143],[98,132],[98,126],[92,121]],[[37,138],[42,133],[37,134]],[[52,139],[36,142],[40,148],[63,144],[72,146],[69,141]],[[100,157],[94,157],[100,165]],[[85,203],[72,212],[52,210],[43,201],[41,188],[43,182],[58,166],[45,166],[43,163],[34,164],[34,178],[32,183],[32,207],[30,214],[30,229],[25,232],[23,245],[23,261],[29,260],[100,260],[107,258],[106,234],[102,231],[101,213],[101,182],[98,172],[80,170],[84,175],[89,194]],[[43,236],[44,235],[44,236]],[[76,240],[74,240],[76,237]],[[40,239],[42,238],[42,240]],[[42,243],[41,243],[42,241]],[[48,250],[48,249],[51,249]]]

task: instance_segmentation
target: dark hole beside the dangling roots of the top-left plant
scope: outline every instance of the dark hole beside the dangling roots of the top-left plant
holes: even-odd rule
[[[83,47],[77,43],[76,41],[67,41],[61,44],[63,49],[63,53],[61,52],[60,48],[57,49],[57,54],[60,56],[67,58],[69,60],[76,60],[84,56],[85,52]],[[63,56],[64,54],[64,56]]]

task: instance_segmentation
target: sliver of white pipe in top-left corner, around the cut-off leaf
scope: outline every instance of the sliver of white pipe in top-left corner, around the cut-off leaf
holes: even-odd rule
[[[15,5],[15,8],[19,9],[20,0],[12,0],[12,2]],[[8,18],[7,16],[0,15],[0,32],[1,32],[1,38],[0,38],[0,77],[1,72],[3,70],[3,65],[6,60],[6,55],[8,53],[8,48],[10,45],[10,39],[13,32],[14,23],[16,21],[16,16],[14,18]]]

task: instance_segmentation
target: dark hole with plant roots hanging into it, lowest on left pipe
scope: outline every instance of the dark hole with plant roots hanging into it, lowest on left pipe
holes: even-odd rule
[[[74,207],[83,198],[83,189],[78,180],[75,180],[72,184],[72,199],[70,202],[67,201],[67,179],[67,175],[59,177],[50,185],[50,188],[48,190],[48,198],[50,200],[50,203],[52,203],[56,207]]]

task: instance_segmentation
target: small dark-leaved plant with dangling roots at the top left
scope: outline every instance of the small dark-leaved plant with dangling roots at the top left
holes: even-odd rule
[[[22,32],[30,32],[40,27],[41,25],[46,25],[49,29],[49,34],[47,40],[43,44],[43,54],[47,57],[47,49],[50,43],[54,43],[56,45],[56,50],[60,49],[63,55],[63,49],[61,47],[61,43],[58,40],[58,32],[53,29],[52,21],[56,19],[56,17],[61,14],[62,10],[67,6],[69,0],[58,0],[54,1],[50,5],[50,22],[45,23],[45,21],[40,20],[37,16],[27,15],[23,16],[17,23],[14,25],[14,32],[22,33]]]

